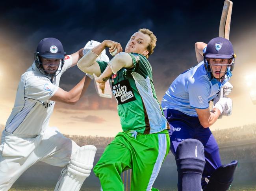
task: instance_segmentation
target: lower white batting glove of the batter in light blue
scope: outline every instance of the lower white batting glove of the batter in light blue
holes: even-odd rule
[[[232,114],[232,99],[215,97],[213,100],[213,108],[218,108],[221,115],[230,116]]]

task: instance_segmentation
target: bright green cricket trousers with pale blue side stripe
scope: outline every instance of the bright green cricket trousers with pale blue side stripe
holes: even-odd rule
[[[123,131],[106,147],[93,171],[103,191],[124,191],[121,173],[127,169],[132,169],[131,191],[157,191],[152,185],[169,150],[167,130],[154,134]]]

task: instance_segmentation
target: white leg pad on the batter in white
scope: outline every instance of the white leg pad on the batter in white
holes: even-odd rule
[[[93,145],[80,147],[69,165],[62,169],[54,191],[79,191],[83,181],[91,173],[96,150]]]

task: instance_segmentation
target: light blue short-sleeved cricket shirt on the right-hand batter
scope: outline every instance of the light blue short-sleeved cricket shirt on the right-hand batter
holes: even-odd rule
[[[206,75],[204,61],[180,74],[165,92],[161,106],[176,109],[190,116],[197,116],[195,108],[206,109],[217,96],[220,88],[230,79],[226,76],[221,82],[213,81]]]

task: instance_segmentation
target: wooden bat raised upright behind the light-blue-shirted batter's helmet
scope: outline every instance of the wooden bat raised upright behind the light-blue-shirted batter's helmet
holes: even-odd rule
[[[233,2],[230,0],[224,1],[223,10],[221,14],[221,21],[219,23],[219,36],[229,39],[230,32],[230,22],[231,22],[231,14],[232,14]],[[221,87],[221,91],[218,94],[219,98],[223,98],[224,89]],[[219,116],[222,118],[222,116]]]

